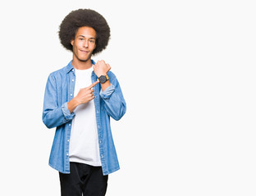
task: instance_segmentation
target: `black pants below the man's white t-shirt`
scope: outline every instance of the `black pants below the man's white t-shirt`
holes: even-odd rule
[[[84,163],[72,163],[71,173],[59,172],[62,196],[104,196],[107,191],[107,178],[102,167]]]

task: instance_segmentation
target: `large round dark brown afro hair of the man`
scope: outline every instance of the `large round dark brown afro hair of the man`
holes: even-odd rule
[[[103,16],[90,9],[71,11],[62,20],[59,30],[62,46],[69,51],[73,51],[71,40],[75,39],[75,33],[83,26],[91,27],[96,31],[96,48],[93,51],[93,55],[103,51],[107,47],[110,38],[110,28]]]

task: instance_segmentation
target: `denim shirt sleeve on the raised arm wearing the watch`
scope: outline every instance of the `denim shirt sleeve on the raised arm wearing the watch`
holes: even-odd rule
[[[126,100],[124,99],[121,87],[115,75],[113,75],[111,86],[105,91],[101,90],[99,95],[104,101],[107,114],[115,120],[120,120],[126,114]]]

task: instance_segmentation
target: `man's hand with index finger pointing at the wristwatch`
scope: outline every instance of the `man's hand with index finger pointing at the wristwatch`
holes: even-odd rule
[[[80,91],[77,93],[72,100],[67,103],[67,108],[72,113],[74,109],[80,105],[89,102],[90,100],[94,99],[94,89],[92,89],[98,81],[92,83],[89,87],[81,88]]]

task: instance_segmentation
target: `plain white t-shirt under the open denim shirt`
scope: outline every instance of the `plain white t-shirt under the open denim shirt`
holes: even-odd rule
[[[75,92],[92,84],[90,69],[75,69]],[[98,149],[98,130],[95,116],[94,100],[78,105],[72,120],[70,139],[70,161],[101,166]]]

